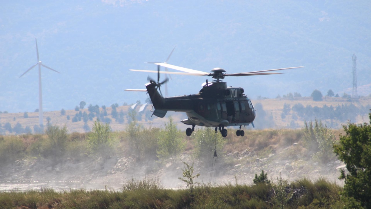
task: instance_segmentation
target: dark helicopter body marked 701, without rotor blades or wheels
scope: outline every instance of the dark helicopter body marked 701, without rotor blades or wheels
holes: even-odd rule
[[[164,117],[167,111],[185,112],[186,125],[209,127],[249,125],[255,119],[251,100],[240,87],[227,87],[225,82],[213,82],[203,86],[198,94],[162,97],[156,83],[146,84],[155,108],[154,115]]]

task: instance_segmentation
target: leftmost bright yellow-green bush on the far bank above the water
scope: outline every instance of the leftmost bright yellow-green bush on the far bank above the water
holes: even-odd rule
[[[93,153],[110,155],[116,140],[109,124],[95,120],[92,131],[88,135],[88,143]]]

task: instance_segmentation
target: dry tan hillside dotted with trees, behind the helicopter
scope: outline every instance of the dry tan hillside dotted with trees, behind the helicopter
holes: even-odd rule
[[[345,99],[341,97],[323,97],[322,101],[313,101],[312,97],[293,97],[293,98],[279,98],[279,99],[260,99],[260,100],[252,100],[253,104],[255,105],[256,111],[256,119],[254,121],[255,123],[255,129],[265,129],[265,128],[302,128],[304,125],[304,120],[310,121],[315,120],[316,115],[314,116],[308,116],[304,115],[303,117],[299,116],[298,112],[295,112],[293,110],[293,107],[297,104],[302,104],[303,107],[312,106],[312,107],[319,107],[323,108],[324,106],[332,106],[332,107],[338,107],[338,106],[350,106],[353,108],[359,108],[363,107],[361,110],[352,110],[351,113],[348,115],[345,115],[344,112],[340,112],[342,115],[344,115],[342,120],[339,120],[338,118],[333,119],[322,119],[320,116],[317,116],[318,119],[321,119],[328,127],[334,128],[334,129],[340,129],[342,128],[342,124],[346,124],[349,119],[351,119],[351,122],[353,123],[364,123],[367,121],[367,114],[369,112],[368,109],[370,109],[371,104],[371,97],[361,97],[357,100],[352,99]],[[289,112],[286,114],[285,118],[282,118],[282,112],[284,105],[289,105]],[[118,106],[116,108],[116,111],[120,113],[122,111],[123,115],[123,121],[121,123],[119,120],[116,120],[112,116],[112,107],[106,107],[105,110],[107,112],[107,116],[104,116],[104,119],[110,120],[110,126],[113,131],[123,131],[125,130],[128,122],[129,122],[129,116],[128,111],[130,109],[131,105],[126,106]],[[177,112],[168,112],[165,118],[158,118],[157,116],[153,116],[151,112],[151,106],[147,105],[145,110],[142,112],[138,112],[140,105],[137,105],[135,107],[135,111],[137,112],[137,120],[140,124],[142,124],[145,127],[161,127],[164,125],[164,122],[167,122],[168,116],[172,116],[174,121],[177,123],[177,126],[179,129],[185,131],[185,129],[188,127],[187,125],[184,125],[180,122],[182,119],[186,119],[187,116],[184,113],[177,113]],[[262,107],[262,108],[261,108]],[[368,108],[368,109],[367,109]],[[92,117],[87,121],[87,125],[89,126],[88,130],[85,130],[83,128],[84,122],[83,118],[81,118],[80,121],[72,122],[73,117],[78,114],[79,112],[86,112],[86,114],[89,114],[88,108],[81,109],[79,111],[76,110],[66,110],[65,115],[61,115],[61,111],[52,111],[52,112],[44,112],[44,124],[47,124],[47,118],[50,118],[50,123],[52,125],[58,125],[63,126],[66,125],[68,131],[70,133],[72,132],[86,132],[89,131],[89,129],[92,128],[92,125],[94,123],[94,120],[96,120],[96,116]],[[329,111],[329,110],[324,110]],[[344,110],[347,111],[347,110]],[[104,112],[103,108],[99,108],[100,114]],[[360,114],[363,113],[363,114]],[[320,114],[324,114],[320,112]],[[35,130],[33,127],[35,125],[38,125],[38,112],[29,112],[27,113],[28,118],[24,118],[24,113],[0,113],[0,125],[2,127],[3,133],[2,134],[14,134],[10,133],[9,131],[4,130],[4,125],[6,123],[10,123],[12,128],[14,128],[17,123],[20,123],[22,125],[22,128],[26,128],[26,126],[29,126],[30,129],[32,129],[33,132]],[[96,115],[96,113],[95,113]],[[67,119],[67,116],[70,117],[70,119]],[[349,117],[349,118],[347,118]],[[101,119],[102,120],[102,119]],[[246,129],[252,129],[251,126],[246,126]]]

